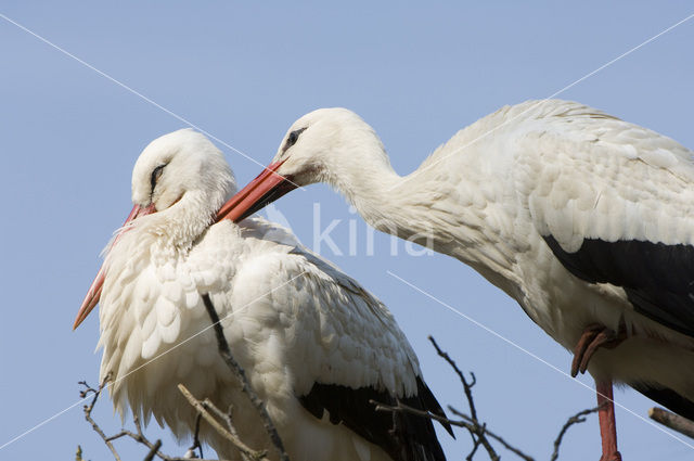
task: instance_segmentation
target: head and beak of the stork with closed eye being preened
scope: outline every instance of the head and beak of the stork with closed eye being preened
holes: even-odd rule
[[[236,190],[233,172],[222,153],[203,135],[182,129],[152,141],[140,154],[132,170],[132,212],[116,234],[150,223],[168,227],[178,241],[191,242],[213,221],[215,213]],[[137,220],[137,221],[136,221]],[[106,255],[107,257],[108,255]],[[97,306],[105,280],[102,266],[77,313],[76,329]]]

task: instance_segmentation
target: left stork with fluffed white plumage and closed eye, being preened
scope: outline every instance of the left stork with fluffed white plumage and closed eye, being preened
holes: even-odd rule
[[[196,414],[177,389],[183,383],[219,408],[233,405],[246,444],[271,447],[214,332],[203,332],[211,302],[292,460],[445,460],[428,419],[370,404],[444,414],[391,313],[287,230],[262,219],[215,223],[234,191],[221,152],[195,131],[158,138],[138,158],[134,207],[75,321],[101,304],[101,377],[112,373],[118,411],[190,434]],[[240,459],[206,424],[201,438]]]

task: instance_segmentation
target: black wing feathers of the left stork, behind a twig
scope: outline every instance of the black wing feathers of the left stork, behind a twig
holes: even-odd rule
[[[318,419],[322,419],[327,410],[331,423],[343,423],[365,440],[383,448],[394,461],[445,461],[432,420],[403,412],[375,411],[375,406],[370,402],[374,400],[395,406],[400,401],[446,418],[426,384],[420,377],[416,384],[415,396],[397,398],[373,387],[354,389],[316,383],[307,395],[299,397],[299,401]],[[444,427],[453,435],[450,425],[444,424]]]

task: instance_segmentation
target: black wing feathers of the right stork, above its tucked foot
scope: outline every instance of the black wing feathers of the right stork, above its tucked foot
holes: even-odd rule
[[[574,276],[621,286],[638,312],[694,337],[694,246],[586,239],[567,253],[552,235],[543,239]]]

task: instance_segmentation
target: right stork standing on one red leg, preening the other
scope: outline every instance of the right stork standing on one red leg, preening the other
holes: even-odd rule
[[[292,125],[220,216],[322,181],[374,228],[472,266],[575,353],[573,375],[593,375],[607,400],[602,459],[615,460],[613,382],[694,418],[693,155],[578,103],[529,101],[400,177],[359,116],[322,108]]]

